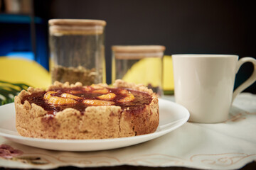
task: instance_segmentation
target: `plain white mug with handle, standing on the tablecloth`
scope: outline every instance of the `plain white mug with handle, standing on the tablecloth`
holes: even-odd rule
[[[234,98],[256,80],[256,60],[238,55],[172,55],[174,96],[195,123],[220,123],[228,119]],[[252,75],[233,92],[235,74],[252,62]]]

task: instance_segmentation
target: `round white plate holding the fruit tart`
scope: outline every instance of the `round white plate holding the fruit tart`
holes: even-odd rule
[[[127,147],[165,135],[186,123],[189,118],[188,110],[174,102],[160,98],[159,108],[159,127],[156,132],[148,135],[103,140],[50,140],[22,137],[21,135],[18,135],[15,128],[14,103],[9,103],[4,106],[0,106],[0,135],[8,140],[12,140],[23,145],[62,151],[95,151]]]

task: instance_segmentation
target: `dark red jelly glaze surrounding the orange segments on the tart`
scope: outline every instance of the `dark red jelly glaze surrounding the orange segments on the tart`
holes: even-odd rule
[[[127,89],[134,95],[134,100],[129,101],[129,102],[124,102],[120,103],[117,102],[120,99],[124,98],[125,95],[121,94],[120,91],[122,89],[112,89],[112,88],[107,88],[110,93],[116,94],[116,96],[112,100],[107,100],[107,101],[114,101],[114,106],[120,106],[122,110],[129,108],[129,113],[136,114],[139,113],[139,111],[142,111],[142,109],[151,103],[151,96],[147,93],[144,93],[142,91],[135,91],[132,89]],[[75,96],[79,96],[82,99],[76,99],[78,103],[75,104],[63,104],[63,105],[53,105],[47,103],[46,100],[44,100],[43,96],[46,94],[48,91],[43,91],[41,93],[36,93],[36,94],[31,94],[29,96],[25,96],[21,103],[23,104],[24,101],[28,101],[29,103],[35,103],[38,106],[41,106],[45,111],[48,111],[48,114],[55,115],[55,113],[58,113],[59,111],[63,111],[65,108],[75,108],[76,110],[80,111],[83,113],[85,111],[85,108],[88,106],[85,103],[82,103],[84,99],[98,99],[97,96],[101,96],[102,94],[95,94],[92,93],[92,91],[84,91],[82,87],[79,88],[66,88],[66,89],[53,89],[50,91],[56,91],[57,93],[55,94],[50,94],[51,96],[60,96],[63,93],[68,93],[68,94],[73,94]],[[71,93],[70,91],[78,91],[77,93]],[[103,99],[104,101],[104,99]]]

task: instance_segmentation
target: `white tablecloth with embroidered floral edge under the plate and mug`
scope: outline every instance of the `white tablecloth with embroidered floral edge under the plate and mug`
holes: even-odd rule
[[[174,101],[174,96],[164,98]],[[185,123],[155,140],[120,149],[58,152],[28,147],[0,137],[0,166],[26,169],[117,165],[239,169],[256,160],[255,131],[256,95],[240,94],[225,123]]]

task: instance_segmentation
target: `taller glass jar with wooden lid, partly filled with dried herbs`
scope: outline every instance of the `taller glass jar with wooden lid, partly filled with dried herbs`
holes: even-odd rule
[[[48,24],[52,82],[105,83],[106,22],[51,19]]]

